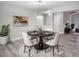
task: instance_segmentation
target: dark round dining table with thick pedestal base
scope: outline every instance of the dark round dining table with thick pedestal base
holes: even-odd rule
[[[51,31],[36,30],[36,31],[28,31],[28,35],[39,38],[39,40],[38,40],[39,42],[37,44],[35,44],[35,46],[34,46],[35,49],[44,50],[44,49],[49,48],[49,45],[45,44],[45,42],[44,42],[44,37],[52,36],[52,35],[54,35],[54,33]]]

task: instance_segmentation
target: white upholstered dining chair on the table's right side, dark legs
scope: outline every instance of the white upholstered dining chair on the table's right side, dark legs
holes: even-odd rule
[[[56,33],[54,39],[49,40],[46,42],[47,45],[49,45],[50,48],[53,49],[53,56],[54,56],[54,48],[57,47],[57,50],[59,52],[59,39],[60,39],[61,33]],[[45,50],[46,53],[46,50]]]

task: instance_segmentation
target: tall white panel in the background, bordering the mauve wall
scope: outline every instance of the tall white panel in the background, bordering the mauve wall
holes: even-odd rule
[[[64,32],[63,12],[54,13],[54,32]]]

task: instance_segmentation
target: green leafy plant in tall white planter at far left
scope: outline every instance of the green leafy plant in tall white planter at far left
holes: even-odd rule
[[[0,30],[0,44],[6,45],[8,43],[9,41],[8,34],[9,34],[9,24],[3,25]]]

